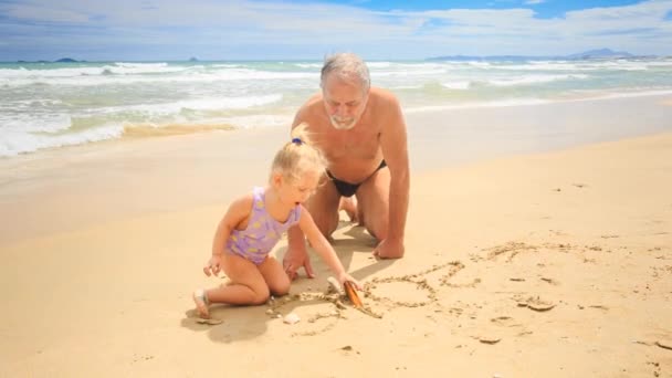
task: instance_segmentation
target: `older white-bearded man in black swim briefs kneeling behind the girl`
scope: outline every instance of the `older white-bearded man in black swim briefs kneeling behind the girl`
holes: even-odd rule
[[[338,225],[339,209],[345,209],[378,240],[376,256],[399,259],[405,251],[410,187],[399,102],[391,93],[371,87],[368,67],[349,53],[327,57],[321,87],[297,112],[292,126],[307,123],[312,139],[328,160],[329,181],[313,195],[307,209],[327,238]],[[284,267],[293,280],[302,266],[314,276],[304,235],[293,228]]]

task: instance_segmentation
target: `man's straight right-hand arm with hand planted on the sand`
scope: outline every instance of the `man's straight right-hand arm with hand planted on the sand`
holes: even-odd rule
[[[380,134],[380,148],[390,170],[389,221],[387,238],[375,251],[380,258],[403,256],[403,237],[410,191],[408,138],[401,106],[391,94],[387,98],[388,114]]]

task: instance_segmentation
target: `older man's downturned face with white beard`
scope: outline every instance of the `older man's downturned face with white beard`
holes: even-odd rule
[[[342,130],[355,127],[366,108],[368,91],[356,80],[344,81],[332,74],[326,77],[322,94],[332,126]]]

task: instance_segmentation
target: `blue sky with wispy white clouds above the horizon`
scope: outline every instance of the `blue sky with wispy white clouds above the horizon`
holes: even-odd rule
[[[0,0],[0,61],[672,55],[672,0]]]

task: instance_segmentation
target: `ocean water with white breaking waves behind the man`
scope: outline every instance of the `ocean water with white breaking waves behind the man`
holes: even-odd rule
[[[405,112],[672,94],[672,57],[368,62]],[[322,62],[0,63],[0,157],[107,139],[286,127]]]

